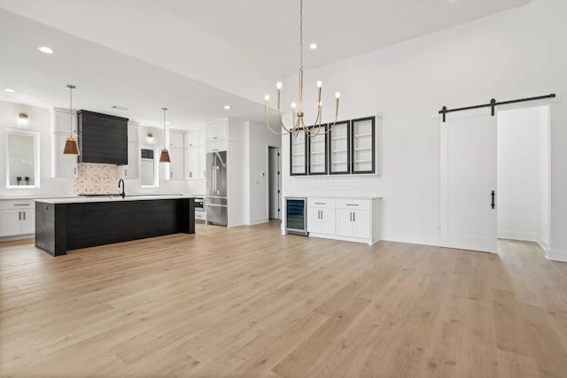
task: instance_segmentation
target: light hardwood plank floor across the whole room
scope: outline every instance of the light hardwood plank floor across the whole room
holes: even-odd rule
[[[0,244],[4,377],[567,377],[567,264],[280,235]]]

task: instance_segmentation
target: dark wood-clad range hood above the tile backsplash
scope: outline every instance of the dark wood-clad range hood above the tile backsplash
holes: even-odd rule
[[[80,110],[79,163],[128,164],[128,119]]]

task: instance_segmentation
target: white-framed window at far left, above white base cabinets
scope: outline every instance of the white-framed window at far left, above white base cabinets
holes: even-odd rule
[[[39,188],[39,135],[6,132],[6,188]]]

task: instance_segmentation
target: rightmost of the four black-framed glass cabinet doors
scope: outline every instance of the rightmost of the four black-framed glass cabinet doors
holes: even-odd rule
[[[353,159],[353,174],[373,174],[375,169],[375,119],[374,117],[353,120],[352,138],[353,148],[351,157]]]

